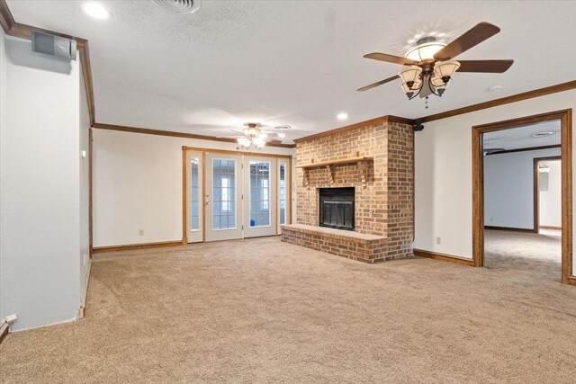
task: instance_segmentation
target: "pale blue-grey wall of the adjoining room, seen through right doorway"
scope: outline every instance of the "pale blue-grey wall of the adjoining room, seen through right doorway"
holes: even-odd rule
[[[534,159],[560,148],[484,156],[486,226],[534,229]]]

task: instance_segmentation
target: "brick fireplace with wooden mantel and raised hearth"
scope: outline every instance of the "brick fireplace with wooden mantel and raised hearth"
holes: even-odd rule
[[[297,224],[283,241],[367,263],[412,255],[413,143],[411,121],[392,116],[297,140]],[[337,191],[353,201],[327,204]]]

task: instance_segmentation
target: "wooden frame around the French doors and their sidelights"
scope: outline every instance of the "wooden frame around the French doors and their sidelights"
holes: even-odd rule
[[[187,147],[182,146],[182,245],[188,245],[188,199],[187,199],[187,186],[186,186],[186,175],[187,175],[187,162],[186,162],[186,152],[193,151],[193,152],[201,152],[202,153],[202,207],[206,205],[206,154],[207,153],[217,153],[217,154],[224,154],[224,155],[239,155],[239,156],[257,156],[257,157],[274,157],[277,160],[282,158],[285,159],[287,162],[288,167],[288,179],[287,182],[287,191],[286,191],[286,200],[290,201],[290,214],[288,215],[288,219],[286,221],[287,224],[292,224],[292,155],[276,155],[270,153],[263,153],[263,152],[247,152],[247,151],[234,151],[234,150],[226,150],[226,149],[212,149],[212,148],[205,148],[205,147]],[[244,158],[244,157],[243,157]],[[278,173],[276,173],[276,185],[278,183]],[[276,194],[276,200],[277,200]],[[244,218],[242,218],[243,220]],[[202,243],[206,242],[206,219],[204,215],[204,219],[202,219]],[[278,216],[276,215],[276,224],[275,228],[278,228]],[[279,234],[279,231],[276,229],[275,234]],[[198,244],[198,243],[196,243]]]

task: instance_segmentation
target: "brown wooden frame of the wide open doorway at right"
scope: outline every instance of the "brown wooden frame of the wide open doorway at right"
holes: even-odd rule
[[[472,127],[473,149],[473,264],[484,265],[484,169],[482,134],[545,121],[561,121],[562,160],[562,282],[576,285],[572,276],[572,109],[492,122]]]

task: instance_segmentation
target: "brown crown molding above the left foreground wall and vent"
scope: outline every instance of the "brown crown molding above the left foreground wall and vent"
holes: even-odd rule
[[[14,16],[8,8],[5,0],[0,0],[0,24],[8,36],[14,36],[21,39],[31,40],[32,31],[49,33],[70,40],[76,40],[76,48],[80,54],[80,64],[82,65],[82,74],[86,89],[86,99],[88,100],[88,112],[90,114],[90,125],[93,126],[95,117],[94,107],[94,85],[92,82],[92,67],[90,66],[90,52],[88,49],[88,40],[67,35],[56,31],[44,30],[42,28],[32,27],[31,25],[21,24],[14,20]]]

